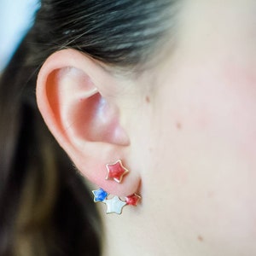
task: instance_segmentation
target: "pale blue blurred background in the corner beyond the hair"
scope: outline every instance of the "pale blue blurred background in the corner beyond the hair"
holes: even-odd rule
[[[32,26],[39,6],[39,0],[0,0],[0,74]]]

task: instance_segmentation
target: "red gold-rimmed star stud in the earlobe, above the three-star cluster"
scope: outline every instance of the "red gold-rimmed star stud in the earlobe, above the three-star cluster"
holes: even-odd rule
[[[117,160],[113,164],[106,165],[108,174],[106,179],[113,179],[117,183],[121,183],[124,175],[129,171],[122,165],[121,160]]]

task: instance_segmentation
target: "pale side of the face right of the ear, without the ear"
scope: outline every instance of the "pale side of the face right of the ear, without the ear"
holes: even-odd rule
[[[195,255],[254,255],[256,4],[190,2],[135,118],[144,211],[160,241]]]

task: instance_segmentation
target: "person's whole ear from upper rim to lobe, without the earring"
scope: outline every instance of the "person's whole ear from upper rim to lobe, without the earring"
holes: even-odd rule
[[[106,180],[106,164],[130,148],[122,117],[119,81],[99,62],[73,49],[50,55],[38,74],[37,101],[45,123],[79,171],[113,195],[131,195],[140,183],[130,170],[122,183]]]

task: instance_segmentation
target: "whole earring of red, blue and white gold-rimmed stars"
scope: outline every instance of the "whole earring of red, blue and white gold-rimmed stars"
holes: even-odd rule
[[[129,171],[123,166],[121,160],[117,160],[113,164],[107,164],[107,176],[106,180],[113,180],[116,183],[121,183],[123,178]],[[94,195],[95,202],[102,202],[107,206],[108,213],[117,213],[121,214],[123,207],[125,206],[137,206],[137,202],[141,200],[141,196],[137,194],[128,195],[125,197],[125,201],[121,200],[119,196],[114,195],[112,198],[109,198],[107,191],[103,189],[97,189],[92,191]]]

